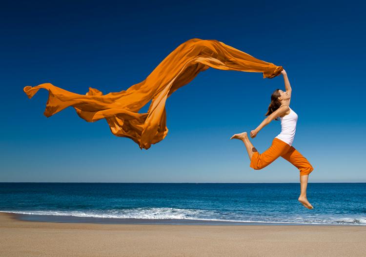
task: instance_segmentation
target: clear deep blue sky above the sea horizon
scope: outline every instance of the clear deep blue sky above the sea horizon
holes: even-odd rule
[[[46,118],[48,91],[23,92],[46,82],[119,92],[191,38],[282,65],[309,182],[366,182],[365,2],[131,2],[2,3],[0,182],[298,182],[282,158],[251,169],[244,144],[229,139],[262,122],[282,75],[203,71],[167,99],[169,132],[148,150],[72,107]],[[250,140],[263,152],[280,130],[272,121]]]

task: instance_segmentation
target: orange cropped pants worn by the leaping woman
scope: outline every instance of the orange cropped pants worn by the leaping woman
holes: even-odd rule
[[[255,170],[263,169],[275,159],[282,157],[291,162],[300,170],[300,176],[308,175],[314,170],[309,161],[300,154],[293,146],[284,141],[274,138],[272,145],[262,154],[254,152],[250,160],[250,167]]]

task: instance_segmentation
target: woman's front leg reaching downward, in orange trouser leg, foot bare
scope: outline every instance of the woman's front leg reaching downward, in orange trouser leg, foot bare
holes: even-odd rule
[[[309,203],[306,197],[307,180],[309,174],[314,170],[309,161],[299,153],[293,146],[290,150],[282,155],[282,158],[291,162],[300,171],[300,197],[298,200],[308,209],[313,209],[314,207]]]

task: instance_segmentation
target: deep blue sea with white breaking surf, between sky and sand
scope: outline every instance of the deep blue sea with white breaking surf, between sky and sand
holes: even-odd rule
[[[0,212],[60,222],[366,225],[366,183],[308,183],[312,210],[299,195],[300,183],[0,183]]]

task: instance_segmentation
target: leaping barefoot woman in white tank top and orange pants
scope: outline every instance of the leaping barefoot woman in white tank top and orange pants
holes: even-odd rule
[[[283,70],[282,75],[285,80],[286,92],[276,89],[271,96],[271,103],[268,106],[268,111],[263,122],[255,129],[250,131],[250,137],[255,138],[258,132],[273,119],[281,118],[281,133],[276,136],[272,145],[262,154],[258,153],[257,149],[249,141],[246,132],[235,134],[232,138],[241,139],[250,159],[250,167],[259,170],[273,162],[275,159],[285,158],[300,170],[301,193],[298,200],[308,209],[313,209],[313,206],[306,198],[307,179],[309,174],[314,170],[309,161],[302,156],[293,146],[292,142],[296,132],[297,114],[289,107],[291,100],[291,86],[288,81],[287,74]]]

